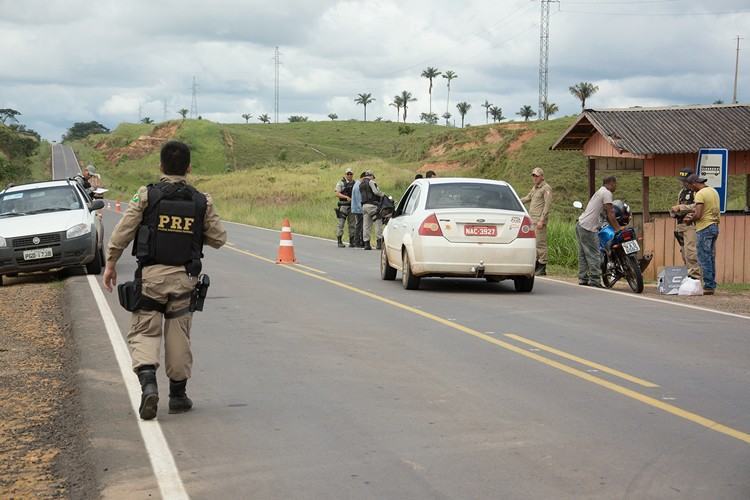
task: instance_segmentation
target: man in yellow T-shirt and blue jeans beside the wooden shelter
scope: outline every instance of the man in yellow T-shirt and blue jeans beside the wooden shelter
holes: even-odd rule
[[[719,193],[706,185],[706,179],[696,174],[691,174],[685,182],[695,192],[695,213],[689,214],[686,219],[695,221],[703,294],[713,295],[716,290],[716,240],[721,215]]]

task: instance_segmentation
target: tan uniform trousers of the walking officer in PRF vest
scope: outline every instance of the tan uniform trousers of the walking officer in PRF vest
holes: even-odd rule
[[[190,305],[190,292],[196,282],[197,278],[188,276],[184,267],[156,264],[143,268],[142,293],[162,304],[166,303],[168,315]],[[172,380],[188,379],[193,367],[193,354],[190,352],[193,314],[188,312],[170,319],[163,316],[158,311],[136,311],[132,314],[128,346],[133,370],[143,365],[158,368],[163,332],[167,376]]]

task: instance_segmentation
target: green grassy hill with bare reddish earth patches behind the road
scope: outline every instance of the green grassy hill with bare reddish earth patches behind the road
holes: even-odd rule
[[[549,147],[574,117],[511,122],[466,129],[390,122],[218,124],[206,120],[158,125],[122,124],[109,134],[72,143],[84,163],[99,167],[113,197],[128,199],[158,176],[158,151],[175,138],[193,151],[194,182],[210,192],[229,219],[276,227],[290,217],[298,231],[332,236],[333,188],[345,167],[375,170],[387,192],[400,196],[414,173],[476,176],[509,181],[523,195],[540,166],[554,189],[553,218],[571,220],[572,202],[586,201],[586,160]],[[615,172],[618,197],[641,208],[638,172]],[[597,179],[597,184],[601,176]],[[678,191],[674,179],[653,179],[652,211],[665,210]],[[744,206],[744,179],[732,180],[730,209]]]

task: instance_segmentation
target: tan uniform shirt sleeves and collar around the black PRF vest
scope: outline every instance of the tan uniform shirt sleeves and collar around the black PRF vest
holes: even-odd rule
[[[164,175],[162,182],[187,182],[183,175]],[[203,221],[203,239],[205,243],[213,248],[219,248],[227,242],[227,231],[219,219],[219,215],[214,210],[211,196],[206,194],[206,219]],[[138,192],[130,200],[127,210],[120,219],[120,222],[112,231],[107,246],[107,262],[115,263],[120,258],[122,252],[128,247],[138,232],[138,227],[143,220],[143,211],[148,206],[148,188],[141,186]]]

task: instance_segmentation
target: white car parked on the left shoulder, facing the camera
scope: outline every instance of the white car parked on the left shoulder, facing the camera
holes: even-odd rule
[[[2,276],[86,266],[99,274],[103,234],[92,200],[75,180],[11,186],[0,191],[0,285]]]

